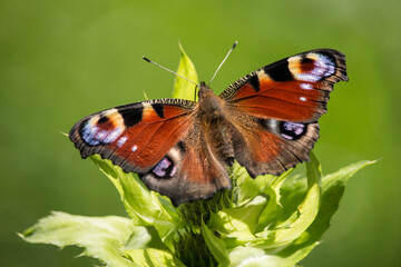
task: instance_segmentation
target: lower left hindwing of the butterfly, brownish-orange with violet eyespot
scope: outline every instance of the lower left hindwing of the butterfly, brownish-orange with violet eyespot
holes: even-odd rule
[[[174,146],[149,171],[140,174],[145,185],[168,196],[173,204],[211,198],[231,187],[225,162],[211,155],[204,137],[190,135]],[[193,131],[194,134],[194,131]]]

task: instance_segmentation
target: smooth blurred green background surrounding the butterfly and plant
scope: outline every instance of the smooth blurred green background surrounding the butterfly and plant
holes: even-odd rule
[[[178,40],[221,92],[256,68],[313,48],[348,57],[315,152],[329,174],[381,160],[351,179],[305,266],[401,266],[399,0],[0,1],[0,265],[90,266],[78,248],[17,235],[50,210],[125,216],[114,186],[67,137],[91,112],[172,93]]]

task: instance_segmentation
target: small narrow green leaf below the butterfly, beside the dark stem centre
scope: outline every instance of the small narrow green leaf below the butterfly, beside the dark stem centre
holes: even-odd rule
[[[202,220],[202,236],[205,238],[206,245],[215,259],[221,266],[228,266],[229,258],[226,244],[218,237],[216,237],[209,228]]]

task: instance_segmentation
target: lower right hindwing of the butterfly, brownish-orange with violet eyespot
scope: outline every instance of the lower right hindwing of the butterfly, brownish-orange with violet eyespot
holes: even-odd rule
[[[243,119],[247,122],[243,123]],[[319,138],[317,122],[288,122],[252,116],[234,117],[233,122],[235,159],[252,177],[278,175],[307,160]]]

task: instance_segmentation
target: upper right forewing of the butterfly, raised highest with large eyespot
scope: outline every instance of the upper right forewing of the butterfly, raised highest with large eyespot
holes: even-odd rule
[[[344,55],[319,49],[258,69],[221,97],[258,118],[314,122],[326,112],[330,91],[340,80],[348,80]]]

